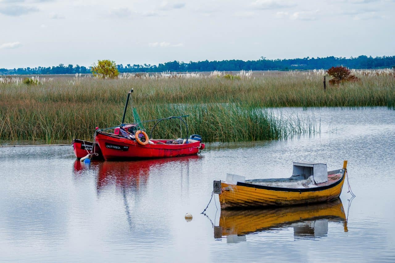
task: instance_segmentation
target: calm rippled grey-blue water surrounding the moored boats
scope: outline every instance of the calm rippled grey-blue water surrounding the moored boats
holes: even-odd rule
[[[0,148],[0,261],[395,261],[395,111],[282,111],[322,133],[90,165],[71,146]],[[329,205],[221,215],[216,196],[199,214],[214,179],[288,177],[296,160],[348,160],[350,207],[345,184]]]

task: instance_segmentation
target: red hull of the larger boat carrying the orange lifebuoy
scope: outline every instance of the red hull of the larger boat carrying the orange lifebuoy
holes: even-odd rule
[[[196,140],[189,140],[186,144],[148,144],[140,145],[136,141],[123,137],[116,137],[110,133],[99,132],[96,134],[104,160],[141,159],[141,158],[165,158],[194,155],[203,148],[203,144]],[[166,142],[166,140],[152,140],[153,142]]]

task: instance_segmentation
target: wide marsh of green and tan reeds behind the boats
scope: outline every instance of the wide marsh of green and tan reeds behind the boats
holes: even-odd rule
[[[395,109],[393,70],[354,70],[357,82],[327,85],[325,71],[130,74],[118,79],[0,77],[0,141],[91,140],[96,126],[119,125],[127,92],[142,120],[189,115],[189,134],[204,141],[286,139],[320,132],[320,121],[275,116],[271,107],[374,107]],[[133,122],[130,109],[127,122]],[[154,137],[179,135],[180,123],[163,122]],[[145,124],[150,131],[154,123]]]

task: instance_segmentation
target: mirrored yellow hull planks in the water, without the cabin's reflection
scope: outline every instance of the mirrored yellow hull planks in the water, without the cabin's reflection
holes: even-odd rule
[[[343,204],[340,199],[336,199],[330,203],[296,207],[222,210],[218,226],[220,229],[214,229],[214,237],[246,235],[278,227],[292,226],[299,222],[322,219],[343,223],[344,232],[348,231]]]

